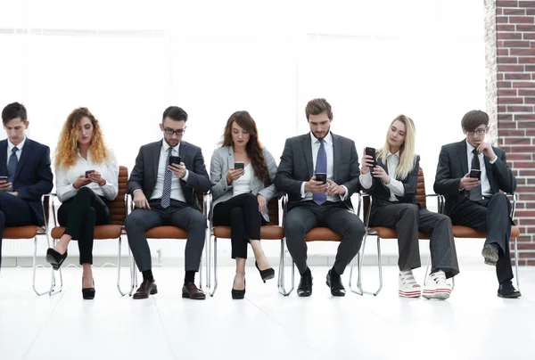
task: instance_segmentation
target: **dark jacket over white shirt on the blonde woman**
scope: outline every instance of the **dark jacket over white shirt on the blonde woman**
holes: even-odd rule
[[[388,168],[386,164],[383,164],[381,159],[377,159],[377,164],[386,171],[388,174]],[[403,196],[396,195],[396,198],[399,200],[399,202],[402,203],[408,203],[408,204],[415,204],[418,207],[420,206],[420,203],[416,200],[416,187],[418,186],[418,172],[420,170],[420,156],[416,155],[416,161],[415,161],[415,167],[411,170],[411,172],[408,174],[407,178],[397,179],[401,183],[403,183],[403,188],[405,189],[405,193]],[[394,177],[394,174],[389,174],[391,177]],[[390,201],[391,192],[386,185],[383,184],[381,179],[372,177],[373,183],[372,187],[369,189],[364,189],[364,192],[367,192],[371,194],[374,197],[374,201],[372,202],[373,207],[382,206],[391,204]]]

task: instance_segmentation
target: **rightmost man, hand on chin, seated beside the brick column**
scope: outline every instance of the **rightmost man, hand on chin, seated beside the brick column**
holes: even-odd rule
[[[446,198],[446,215],[453,225],[487,232],[481,250],[485,264],[496,266],[501,298],[518,298],[514,289],[509,251],[511,203],[516,179],[506,164],[506,152],[484,141],[489,115],[481,110],[465,114],[461,126],[466,138],[442,146],[434,191]],[[472,175],[472,176],[471,176]]]

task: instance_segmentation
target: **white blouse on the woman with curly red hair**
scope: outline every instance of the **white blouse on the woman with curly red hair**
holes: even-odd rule
[[[110,151],[110,159],[102,164],[95,164],[91,158],[91,152],[87,152],[87,160],[82,158],[78,151],[76,164],[70,168],[56,168],[56,193],[60,201],[69,200],[78,192],[72,184],[78,176],[85,175],[87,170],[96,170],[106,180],[106,184],[100,186],[96,183],[89,183],[85,186],[93,190],[99,196],[105,196],[108,200],[113,200],[119,193],[119,165],[115,154]]]

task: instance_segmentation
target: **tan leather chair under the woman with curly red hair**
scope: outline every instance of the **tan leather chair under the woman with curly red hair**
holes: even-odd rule
[[[127,195],[127,181],[128,181],[128,168],[119,167],[119,193],[115,200],[112,200],[108,204],[111,212],[111,222],[109,225],[96,225],[95,226],[95,240],[107,240],[107,239],[118,239],[119,241],[119,255],[117,258],[117,290],[119,293],[124,296],[125,292],[120,290],[120,266],[121,266],[121,235],[124,234],[124,222],[127,217],[127,206],[126,206],[126,195]],[[55,196],[55,194],[53,194]],[[62,234],[65,232],[64,226],[57,226],[57,216],[54,203],[53,207],[53,223],[54,227],[51,232],[53,242],[60,239]],[[75,239],[73,239],[75,240]],[[62,268],[60,267],[60,289],[57,292],[62,290]]]

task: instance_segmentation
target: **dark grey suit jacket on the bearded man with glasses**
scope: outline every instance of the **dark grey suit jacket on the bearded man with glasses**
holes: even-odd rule
[[[147,143],[139,149],[136,165],[128,179],[128,193],[134,195],[137,189],[141,189],[147,199],[151,199],[152,192],[156,187],[158,178],[158,163],[160,161],[161,144]],[[185,201],[194,208],[201,210],[199,201],[194,191],[208,192],[210,190],[210,178],[206,172],[201,148],[192,143],[180,142],[178,152],[189,175],[187,181],[180,180],[180,187],[184,193]]]

